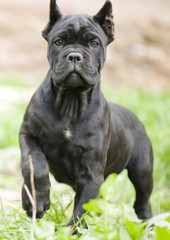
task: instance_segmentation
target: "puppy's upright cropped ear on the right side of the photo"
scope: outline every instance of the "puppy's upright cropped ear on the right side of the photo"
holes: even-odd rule
[[[108,38],[108,44],[114,40],[114,23],[112,15],[112,3],[106,0],[102,9],[93,17],[102,27]]]

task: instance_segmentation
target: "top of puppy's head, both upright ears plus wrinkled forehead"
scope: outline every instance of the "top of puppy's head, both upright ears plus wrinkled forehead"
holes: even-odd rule
[[[106,0],[100,11],[94,15],[70,14],[64,15],[56,4],[56,0],[50,1],[50,19],[42,32],[43,37],[49,42],[60,32],[71,32],[72,36],[91,32],[105,45],[114,40],[114,23],[112,16],[112,3]]]

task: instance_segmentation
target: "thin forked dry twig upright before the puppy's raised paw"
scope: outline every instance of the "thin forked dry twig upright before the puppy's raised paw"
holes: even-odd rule
[[[36,204],[36,190],[35,190],[35,182],[34,182],[34,167],[31,156],[29,157],[30,163],[30,184],[31,184],[31,191],[30,193],[26,184],[24,184],[25,191],[27,196],[32,205],[32,229],[31,229],[31,240],[34,240],[34,232],[35,232],[35,224],[36,224],[36,211],[37,211],[37,204]]]

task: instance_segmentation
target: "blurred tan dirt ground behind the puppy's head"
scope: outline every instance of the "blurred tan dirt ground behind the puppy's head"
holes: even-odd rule
[[[58,0],[63,13],[95,14],[104,0]],[[103,81],[114,88],[170,88],[170,1],[112,0],[115,41]],[[48,70],[41,31],[49,0],[0,0],[0,77],[19,74],[37,85]]]

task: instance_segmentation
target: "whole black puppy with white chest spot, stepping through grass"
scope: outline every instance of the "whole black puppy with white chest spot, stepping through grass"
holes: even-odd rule
[[[73,219],[95,198],[110,173],[128,170],[136,189],[139,218],[152,216],[153,154],[145,129],[128,109],[108,103],[100,89],[106,47],[114,39],[112,5],[106,1],[94,17],[63,15],[55,0],[43,31],[50,70],[26,110],[20,130],[22,174],[30,186],[31,156],[37,217],[49,209],[49,170],[76,191]],[[32,206],[22,189],[23,208]],[[73,224],[73,219],[70,225]]]

